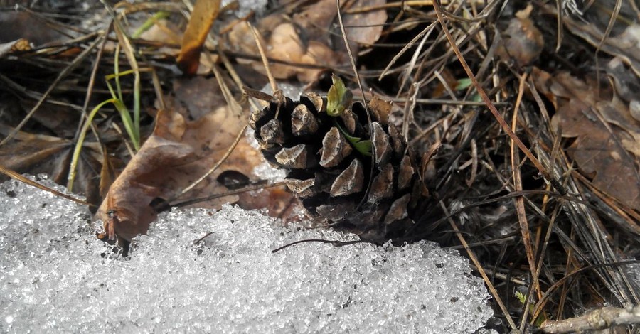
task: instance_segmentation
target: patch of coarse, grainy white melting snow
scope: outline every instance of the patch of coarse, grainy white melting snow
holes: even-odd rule
[[[0,185],[1,333],[472,333],[492,315],[469,262],[429,242],[272,254],[356,237],[225,205],[161,215],[125,259],[90,217]]]

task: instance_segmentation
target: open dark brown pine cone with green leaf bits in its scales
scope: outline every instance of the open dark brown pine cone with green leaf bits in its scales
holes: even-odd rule
[[[363,239],[402,235],[425,194],[415,156],[378,105],[369,104],[370,127],[360,102],[331,117],[326,97],[314,93],[299,102],[274,98],[250,117],[263,155],[287,169],[304,208]]]

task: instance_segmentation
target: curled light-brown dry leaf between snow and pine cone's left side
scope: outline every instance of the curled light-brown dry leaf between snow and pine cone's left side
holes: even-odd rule
[[[156,218],[152,201],[156,198],[173,198],[203,176],[230,147],[244,126],[245,118],[227,108],[210,112],[193,122],[186,121],[178,112],[159,112],[154,134],[129,161],[100,206],[97,217],[105,225],[113,225],[106,226],[106,230],[112,229],[126,240],[146,233],[149,224]],[[247,154],[238,154],[230,158],[228,163],[235,170],[247,173],[252,163],[248,163],[246,158]],[[227,191],[215,181],[221,171],[206,178],[187,194],[188,198]],[[228,200],[221,198],[208,205],[215,206]],[[110,219],[110,216],[117,219]]]

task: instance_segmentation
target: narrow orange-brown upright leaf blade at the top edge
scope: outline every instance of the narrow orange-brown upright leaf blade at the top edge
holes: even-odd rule
[[[202,45],[219,12],[220,0],[196,0],[178,55],[178,68],[187,75],[195,75],[198,72]]]

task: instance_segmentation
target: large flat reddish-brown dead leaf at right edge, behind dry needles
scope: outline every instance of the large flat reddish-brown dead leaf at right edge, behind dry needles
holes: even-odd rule
[[[552,126],[576,138],[567,153],[580,171],[599,190],[640,210],[640,122],[626,104],[617,96],[599,99],[595,87],[567,73],[552,77],[536,69],[532,75],[536,88],[555,105]]]

